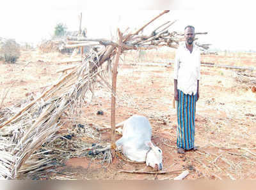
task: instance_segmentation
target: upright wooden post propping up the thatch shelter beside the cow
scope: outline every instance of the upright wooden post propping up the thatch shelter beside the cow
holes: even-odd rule
[[[122,34],[120,32],[119,29],[117,29],[118,31],[118,36],[119,36],[119,40],[118,40],[118,44],[119,46],[117,47],[117,52],[116,52],[116,57],[115,57],[115,62],[114,62],[114,66],[113,66],[113,70],[112,70],[112,92],[113,94],[111,95],[111,147],[115,148],[115,128],[116,128],[116,121],[115,121],[115,112],[116,112],[116,98],[114,96],[114,94],[116,94],[116,77],[117,77],[117,66],[118,66],[118,61],[119,61],[119,56],[121,54],[121,45],[122,45]],[[111,149],[112,156],[113,158],[115,157],[115,150]]]

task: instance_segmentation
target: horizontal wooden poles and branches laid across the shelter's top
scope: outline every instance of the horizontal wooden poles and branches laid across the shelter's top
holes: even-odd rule
[[[152,20],[154,21],[154,20]],[[150,22],[152,22],[150,21]],[[150,22],[148,24],[150,24]],[[129,29],[125,30],[123,34],[124,41],[122,43],[122,52],[124,50],[149,50],[156,47],[168,46],[171,48],[178,48],[179,43],[184,41],[184,33],[180,33],[177,31],[170,32],[169,28],[176,22],[168,21],[163,25],[157,27],[150,33],[150,35],[145,36],[140,32],[143,31],[143,26],[141,29],[134,33],[129,33]],[[148,25],[147,24],[147,25]],[[146,25],[146,26],[147,26]],[[195,33],[196,35],[207,34],[207,33]],[[198,40],[198,38],[195,38]],[[91,38],[83,38],[76,36],[67,36],[67,48],[77,48],[77,47],[94,47],[95,49],[99,49],[100,46],[107,47],[111,45],[112,47],[117,47],[118,44],[106,40],[106,39],[91,39]],[[209,49],[210,44],[200,44],[195,41],[195,45],[197,45],[201,50],[205,51]]]

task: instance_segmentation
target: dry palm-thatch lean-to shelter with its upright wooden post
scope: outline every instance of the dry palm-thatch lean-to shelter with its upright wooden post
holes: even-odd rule
[[[102,161],[111,163],[111,148],[115,148],[115,98],[116,74],[119,55],[126,50],[150,49],[160,46],[177,47],[182,34],[168,32],[173,22],[157,27],[151,36],[140,36],[140,32],[156,18],[134,33],[121,33],[118,41],[68,37],[77,41],[65,47],[84,47],[97,43],[83,55],[83,61],[63,70],[63,75],[40,96],[24,101],[20,108],[5,108],[0,112],[0,179],[35,178],[52,172],[52,168],[63,161],[63,157],[89,156],[88,150],[102,152]],[[51,47],[51,45],[50,45]],[[203,48],[207,48],[202,46]],[[82,51],[83,52],[83,51]],[[112,84],[105,79],[109,71],[113,73]],[[58,135],[65,124],[65,116],[79,116],[86,105],[85,98],[93,96],[94,85],[100,82],[112,93],[111,99],[111,143],[92,146],[90,143],[67,142]],[[33,99],[33,100],[31,100]],[[79,127],[79,126],[78,126]],[[83,128],[84,129],[84,128]],[[86,128],[84,130],[90,130]],[[93,132],[90,135],[94,135]],[[68,136],[66,136],[68,138]],[[72,151],[70,152],[70,149]],[[112,150],[113,150],[112,149]]]

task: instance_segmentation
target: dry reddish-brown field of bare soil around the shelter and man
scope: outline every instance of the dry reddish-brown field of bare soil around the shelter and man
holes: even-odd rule
[[[186,179],[256,179],[256,93],[234,80],[235,70],[202,66],[195,136],[200,149],[180,155],[175,148],[177,122],[172,108],[172,64],[137,64],[136,55],[131,55],[125,55],[118,68],[116,122],[133,114],[148,117],[153,128],[152,142],[163,150],[164,170],[180,170],[179,173],[189,170]],[[256,68],[255,57],[256,54],[220,53],[202,55],[202,61]],[[174,52],[154,50],[147,52],[144,58],[144,63],[172,60]],[[43,92],[60,78],[61,74],[56,71],[67,67],[67,63],[60,62],[68,59],[69,55],[42,54],[36,50],[23,51],[15,64],[0,62],[0,100],[3,100],[0,109],[19,103],[31,93],[36,96]],[[110,102],[110,93],[98,85],[95,98],[82,109],[78,122],[110,126]],[[97,115],[99,110],[104,115]],[[71,128],[72,123],[67,122],[60,133],[65,135]],[[109,131],[102,131],[99,138],[74,138],[86,143],[110,142]],[[60,173],[51,173],[44,179],[68,176],[68,179],[168,180],[179,175],[118,173],[120,170],[152,171],[145,168],[145,164],[128,163],[120,157],[116,157],[112,164],[102,164],[97,157],[73,157],[66,159],[56,170]]]

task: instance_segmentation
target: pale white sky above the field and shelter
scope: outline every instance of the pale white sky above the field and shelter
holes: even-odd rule
[[[198,37],[200,42],[211,43],[212,47],[256,51],[256,14],[253,1],[223,3],[218,0],[195,0],[190,4],[185,0],[179,0],[179,3],[176,0],[158,0],[157,4],[154,2],[156,1],[1,0],[0,37],[14,38],[18,42],[38,43],[49,39],[54,26],[60,22],[67,26],[68,31],[77,31],[78,15],[82,12],[82,27],[87,28],[88,38],[110,40],[110,31],[115,36],[117,27],[121,31],[127,27],[135,29],[163,10],[171,10],[147,27],[145,33],[168,20],[177,19],[170,30],[183,31],[185,26],[193,25],[197,32],[209,33]]]

